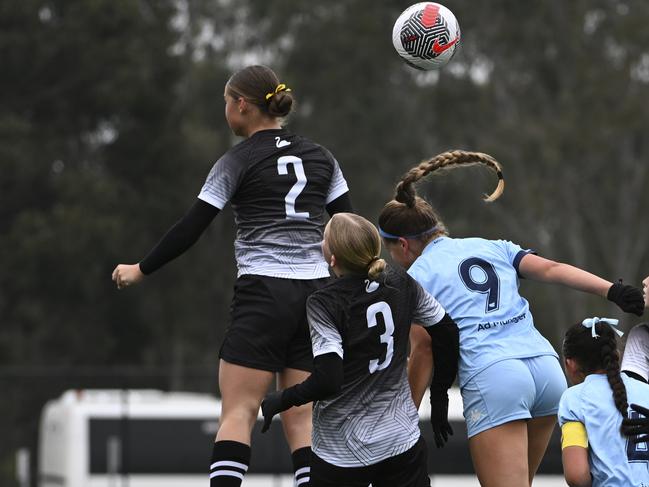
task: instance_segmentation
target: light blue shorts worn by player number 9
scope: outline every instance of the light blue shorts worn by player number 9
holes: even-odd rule
[[[566,387],[563,369],[552,355],[490,365],[462,388],[469,438],[517,419],[556,415]]]

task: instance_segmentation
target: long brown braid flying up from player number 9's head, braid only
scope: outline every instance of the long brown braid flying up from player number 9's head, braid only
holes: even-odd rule
[[[426,175],[441,170],[455,169],[459,166],[475,166],[482,164],[494,171],[498,176],[498,186],[490,195],[486,195],[484,200],[491,202],[497,200],[505,189],[505,180],[500,163],[489,154],[483,152],[467,152],[462,150],[452,150],[442,152],[432,159],[420,162],[417,166],[408,171],[396,187],[394,199],[404,203],[409,208],[415,204],[417,192],[414,184]]]

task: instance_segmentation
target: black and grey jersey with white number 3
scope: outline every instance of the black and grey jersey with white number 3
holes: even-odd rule
[[[307,301],[313,355],[343,359],[341,393],[313,408],[313,451],[339,467],[373,465],[410,449],[419,416],[406,374],[410,325],[432,326],[442,306],[405,271],[380,282],[341,277]]]

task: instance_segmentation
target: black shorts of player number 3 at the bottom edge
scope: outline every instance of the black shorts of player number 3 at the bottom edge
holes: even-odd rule
[[[368,467],[337,467],[311,455],[311,487],[430,487],[422,437],[408,451]]]

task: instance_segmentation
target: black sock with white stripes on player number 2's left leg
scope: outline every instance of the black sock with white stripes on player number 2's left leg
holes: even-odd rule
[[[238,441],[217,441],[212,450],[210,487],[240,487],[250,465],[250,447]]]

